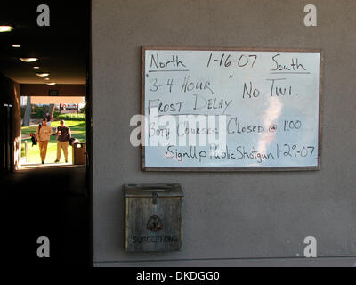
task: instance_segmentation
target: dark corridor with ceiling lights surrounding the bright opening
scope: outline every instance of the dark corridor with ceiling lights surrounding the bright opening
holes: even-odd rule
[[[48,22],[39,24],[44,19]],[[28,266],[91,265],[90,1],[6,1],[0,26],[12,27],[0,29],[3,260]],[[86,165],[21,168],[21,127],[27,126],[21,96],[85,97]],[[50,258],[36,254],[41,236],[49,238]]]

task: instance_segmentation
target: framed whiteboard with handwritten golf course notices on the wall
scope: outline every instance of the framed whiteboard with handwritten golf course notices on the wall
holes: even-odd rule
[[[320,169],[320,51],[142,47],[142,170]]]

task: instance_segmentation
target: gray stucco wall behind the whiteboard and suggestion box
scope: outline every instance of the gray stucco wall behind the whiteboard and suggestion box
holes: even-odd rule
[[[317,27],[303,25],[306,4],[318,9]],[[295,258],[309,235],[320,257],[356,256],[355,14],[352,0],[93,0],[93,263]],[[321,170],[142,172],[129,141],[142,45],[320,48]],[[125,183],[182,184],[182,251],[125,252]]]

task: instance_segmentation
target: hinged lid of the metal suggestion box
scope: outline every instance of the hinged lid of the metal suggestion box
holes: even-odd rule
[[[183,197],[180,184],[125,184],[125,197]]]

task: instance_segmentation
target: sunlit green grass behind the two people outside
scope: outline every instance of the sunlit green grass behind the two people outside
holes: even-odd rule
[[[51,124],[52,127],[60,126],[60,121],[54,121]],[[85,142],[86,139],[86,125],[85,121],[81,120],[66,120],[66,125],[70,128],[72,137],[79,140],[79,142]],[[36,133],[36,126],[22,126],[21,134],[22,137],[29,135],[30,133]],[[38,144],[32,146],[31,139],[22,139],[21,144],[21,157],[25,157],[25,141],[28,141],[28,160],[27,163],[41,163],[41,158],[39,156]],[[72,163],[72,147],[68,148],[68,160]],[[47,147],[47,155],[45,162],[53,163],[57,158],[57,140],[56,136],[51,136],[50,142]],[[61,162],[64,162],[64,154],[61,151]]]

